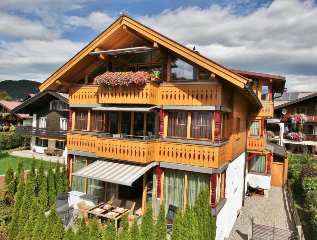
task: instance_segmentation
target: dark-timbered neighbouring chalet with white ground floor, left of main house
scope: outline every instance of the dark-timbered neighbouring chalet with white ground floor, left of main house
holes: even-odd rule
[[[31,150],[43,153],[44,149],[62,149],[65,156],[68,128],[68,94],[43,91],[11,110],[28,113],[31,125],[16,126],[16,133],[31,135]]]

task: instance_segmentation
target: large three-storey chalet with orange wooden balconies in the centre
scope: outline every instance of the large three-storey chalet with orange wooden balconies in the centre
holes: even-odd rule
[[[137,70],[158,70],[161,80],[93,85],[106,71]],[[269,189],[275,153],[265,120],[273,118],[272,95],[284,85],[281,76],[227,69],[124,15],[39,90],[69,94],[72,190],[99,201],[130,199],[142,212],[152,200],[156,217],[159,204],[184,210],[206,187],[222,240],[249,177]]]

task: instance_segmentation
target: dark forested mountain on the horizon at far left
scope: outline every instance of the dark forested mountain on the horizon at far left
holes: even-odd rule
[[[21,101],[29,93],[39,93],[40,82],[22,79],[19,81],[5,80],[0,82],[0,91],[6,91],[15,101]]]

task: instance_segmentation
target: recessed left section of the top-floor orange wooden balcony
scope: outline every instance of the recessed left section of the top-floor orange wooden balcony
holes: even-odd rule
[[[98,104],[99,87],[69,88],[69,104]]]

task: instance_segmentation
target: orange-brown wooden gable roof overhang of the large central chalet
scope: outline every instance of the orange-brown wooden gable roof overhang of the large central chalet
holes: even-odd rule
[[[126,15],[118,18],[78,54],[52,74],[39,86],[39,90],[41,92],[44,90],[67,92],[68,87],[73,85],[75,81],[74,76],[77,74],[78,69],[88,68],[87,62],[93,63],[101,61],[96,55],[89,55],[90,52],[129,48],[131,47],[131,41],[134,46],[157,48],[163,55],[167,53],[166,50],[170,50],[177,55],[183,56],[190,62],[194,62],[201,68],[215,73],[236,87],[247,90],[245,84],[248,84],[249,80],[246,77],[213,62],[203,55],[159,34]],[[106,57],[109,57],[109,55]],[[100,62],[100,64],[101,63],[102,62]],[[249,94],[249,90],[247,90],[247,93]],[[254,103],[257,104],[256,99],[254,99],[254,97],[252,97],[252,99]]]

